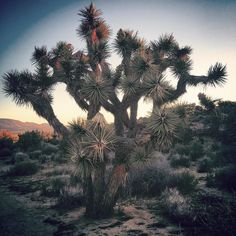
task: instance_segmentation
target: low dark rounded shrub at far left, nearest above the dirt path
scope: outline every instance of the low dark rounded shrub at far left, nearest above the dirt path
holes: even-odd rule
[[[7,176],[25,176],[25,175],[33,175],[37,173],[39,170],[39,166],[32,161],[22,161],[16,163],[12,166],[8,172]]]

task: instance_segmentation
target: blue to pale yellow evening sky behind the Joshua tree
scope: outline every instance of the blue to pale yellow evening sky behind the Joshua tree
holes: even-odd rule
[[[103,18],[112,29],[110,42],[120,28],[138,31],[147,42],[158,40],[165,33],[173,33],[181,46],[193,48],[192,74],[205,75],[216,62],[227,65],[228,80],[223,87],[188,88],[179,101],[198,102],[204,92],[213,98],[236,101],[236,0],[94,0]],[[84,49],[84,42],[76,34],[78,11],[91,1],[80,0],[0,0],[0,118],[46,122],[29,107],[17,107],[2,91],[1,78],[11,69],[30,69],[34,46],[53,48],[58,41],[72,43]],[[120,58],[112,53],[108,60],[113,67]],[[176,79],[167,75],[175,84]],[[85,117],[74,100],[58,85],[54,92],[53,108],[64,124],[77,117]],[[138,115],[146,116],[151,106],[140,102]],[[103,111],[104,112],[104,111]],[[108,121],[112,115],[104,112]]]

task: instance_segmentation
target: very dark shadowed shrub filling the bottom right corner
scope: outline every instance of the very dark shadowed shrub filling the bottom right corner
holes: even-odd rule
[[[236,235],[236,197],[200,192],[191,201],[196,235]]]

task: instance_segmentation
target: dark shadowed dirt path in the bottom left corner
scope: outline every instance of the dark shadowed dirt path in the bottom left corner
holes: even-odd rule
[[[54,228],[43,223],[40,209],[29,209],[0,188],[1,236],[50,236]]]

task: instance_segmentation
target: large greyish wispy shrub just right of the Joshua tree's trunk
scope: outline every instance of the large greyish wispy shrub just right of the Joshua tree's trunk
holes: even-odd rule
[[[129,172],[126,189],[135,196],[159,195],[170,183],[171,173],[165,158],[153,159]]]

